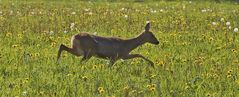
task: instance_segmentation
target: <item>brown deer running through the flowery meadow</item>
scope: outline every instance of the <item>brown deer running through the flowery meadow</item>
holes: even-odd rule
[[[62,51],[67,51],[76,56],[83,56],[81,61],[86,61],[92,56],[109,59],[110,64],[113,65],[118,59],[133,59],[142,58],[149,62],[154,67],[154,63],[142,56],[141,54],[131,54],[130,52],[143,45],[144,43],[159,44],[154,34],[149,31],[150,23],[145,26],[144,32],[139,36],[130,39],[120,39],[115,37],[101,37],[90,35],[88,33],[79,33],[72,37],[71,48],[61,44],[58,55],[57,63]]]

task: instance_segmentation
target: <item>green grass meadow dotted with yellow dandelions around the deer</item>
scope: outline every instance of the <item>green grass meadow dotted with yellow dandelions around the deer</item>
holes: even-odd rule
[[[239,6],[235,2],[83,2],[0,0],[2,97],[239,97]],[[141,59],[107,60],[64,52],[89,32],[131,38],[146,21],[159,45]]]

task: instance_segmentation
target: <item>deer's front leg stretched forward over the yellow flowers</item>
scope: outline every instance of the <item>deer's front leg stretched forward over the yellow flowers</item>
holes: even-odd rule
[[[154,63],[153,63],[151,60],[149,60],[149,59],[145,58],[144,56],[142,56],[141,54],[129,54],[129,55],[127,55],[127,56],[122,57],[122,59],[124,59],[124,60],[125,60],[125,59],[133,59],[133,58],[142,58],[142,59],[148,61],[149,64],[150,64],[152,67],[154,67]]]

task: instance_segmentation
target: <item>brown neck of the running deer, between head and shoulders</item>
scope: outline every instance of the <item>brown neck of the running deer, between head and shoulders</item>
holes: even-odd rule
[[[135,38],[129,39],[127,41],[127,46],[128,46],[129,51],[132,51],[135,48],[137,48],[138,46],[143,45],[144,43],[146,43],[144,35],[140,34],[139,36],[137,36]]]

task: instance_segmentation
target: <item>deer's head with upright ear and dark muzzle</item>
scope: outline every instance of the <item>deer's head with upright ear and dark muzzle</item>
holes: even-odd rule
[[[154,36],[154,34],[151,31],[149,31],[149,29],[150,29],[150,23],[147,23],[145,26],[145,30],[143,32],[144,39],[151,44],[155,44],[155,45],[159,44],[159,41]]]

